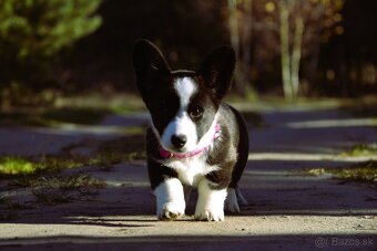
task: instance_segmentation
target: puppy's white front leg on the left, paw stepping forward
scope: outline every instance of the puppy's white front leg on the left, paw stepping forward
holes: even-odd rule
[[[176,178],[164,180],[154,189],[157,217],[161,220],[174,220],[184,215],[185,200],[183,186]]]

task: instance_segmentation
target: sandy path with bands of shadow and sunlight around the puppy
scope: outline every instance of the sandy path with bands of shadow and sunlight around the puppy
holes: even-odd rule
[[[240,185],[249,206],[240,215],[226,213],[223,222],[196,222],[194,194],[187,216],[157,221],[143,161],[109,170],[85,167],[74,172],[108,184],[99,195],[12,209],[17,218],[0,221],[0,249],[377,250],[375,187],[297,174],[374,158],[338,155],[355,144],[377,142],[373,119],[336,109],[271,109],[263,117],[266,127],[249,127],[249,161]],[[145,115],[108,117],[95,128],[80,130],[0,128],[0,154],[59,153],[83,138],[118,137],[119,126],[146,121]],[[0,180],[0,195],[32,203],[28,189],[10,191],[6,185]]]

